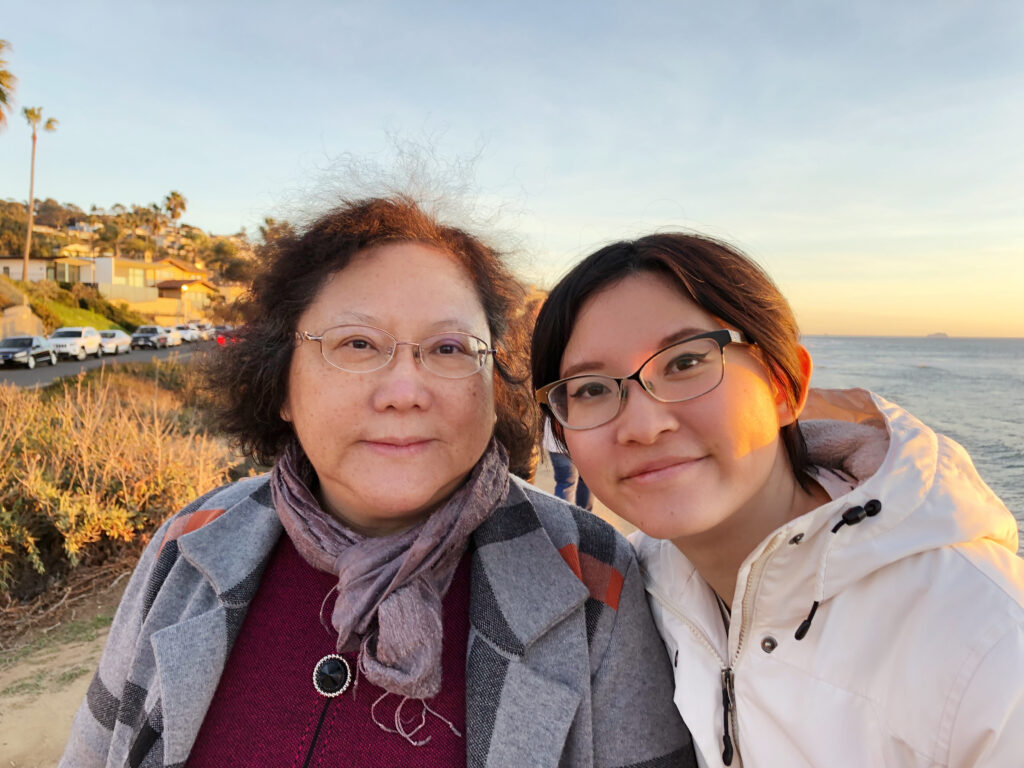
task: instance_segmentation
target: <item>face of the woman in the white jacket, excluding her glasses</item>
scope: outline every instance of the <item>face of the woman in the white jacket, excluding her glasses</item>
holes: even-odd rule
[[[628,376],[668,339],[723,327],[669,279],[633,275],[584,303],[560,376]],[[757,515],[766,494],[793,485],[779,438],[780,426],[793,420],[791,409],[752,347],[730,344],[725,360],[722,383],[700,397],[658,402],[629,381],[612,421],[565,430],[587,484],[649,536],[679,544],[727,532]]]

